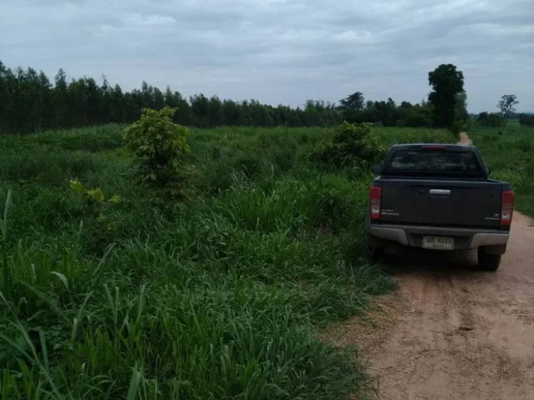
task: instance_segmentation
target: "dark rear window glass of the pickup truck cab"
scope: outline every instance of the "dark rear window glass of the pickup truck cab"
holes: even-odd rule
[[[401,150],[382,170],[384,175],[466,176],[481,178],[482,167],[471,151]]]

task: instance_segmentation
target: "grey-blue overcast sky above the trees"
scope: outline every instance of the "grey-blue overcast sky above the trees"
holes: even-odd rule
[[[355,91],[418,102],[453,63],[469,111],[502,94],[534,111],[534,1],[1,0],[0,60],[291,106]]]

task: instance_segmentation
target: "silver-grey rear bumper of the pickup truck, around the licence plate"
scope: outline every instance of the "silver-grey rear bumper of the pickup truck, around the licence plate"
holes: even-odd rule
[[[509,232],[470,228],[443,228],[437,226],[369,225],[373,238],[388,240],[403,246],[421,247],[423,236],[449,236],[455,240],[455,249],[476,249],[481,246],[499,246],[508,242]]]

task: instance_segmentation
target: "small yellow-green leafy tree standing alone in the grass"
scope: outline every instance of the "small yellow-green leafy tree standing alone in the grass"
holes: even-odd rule
[[[144,110],[124,135],[127,149],[140,160],[140,181],[156,190],[157,203],[171,208],[186,197],[184,156],[191,151],[186,141],[191,131],[172,122],[176,111],[170,107]]]

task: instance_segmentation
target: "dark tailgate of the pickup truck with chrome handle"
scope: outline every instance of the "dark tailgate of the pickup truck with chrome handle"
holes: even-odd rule
[[[381,221],[499,228],[502,185],[494,181],[382,180]]]

